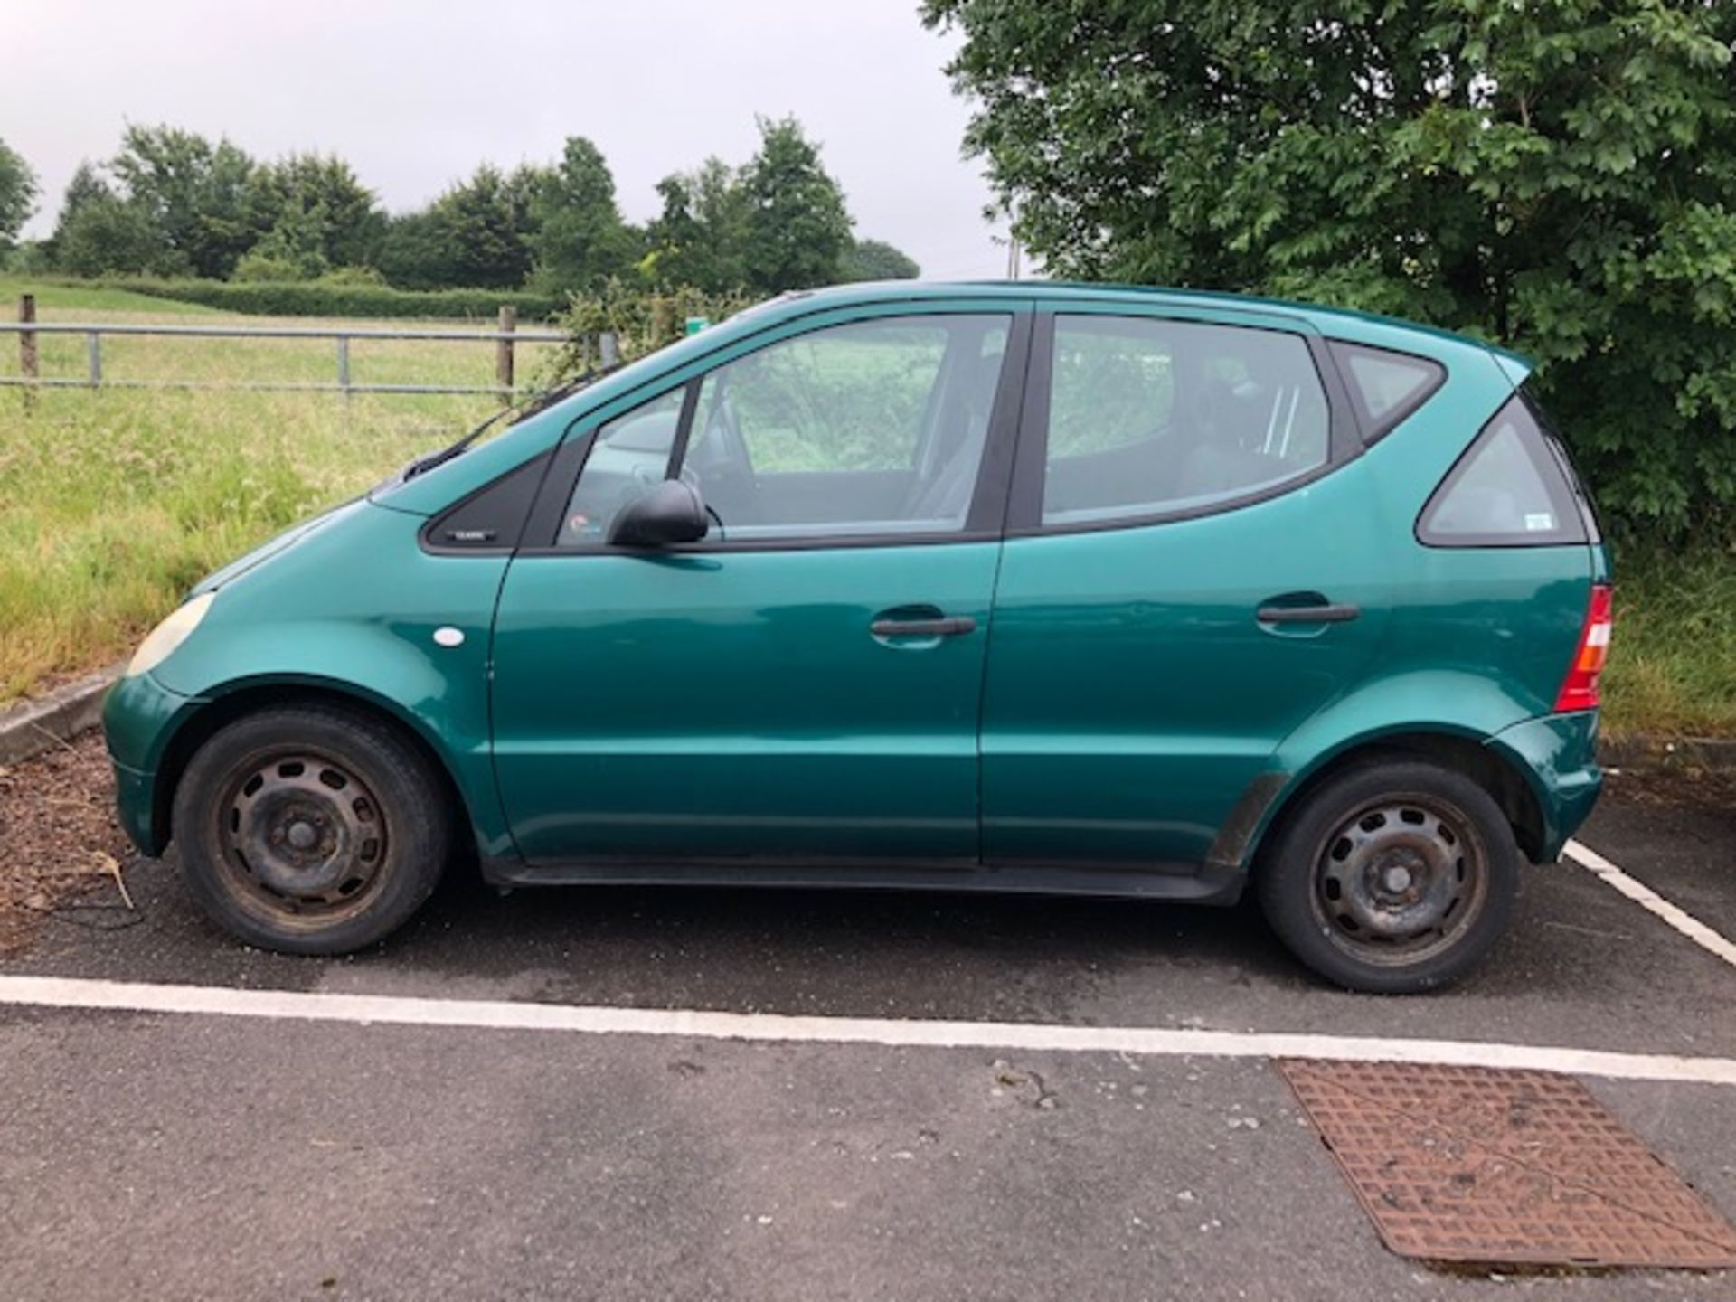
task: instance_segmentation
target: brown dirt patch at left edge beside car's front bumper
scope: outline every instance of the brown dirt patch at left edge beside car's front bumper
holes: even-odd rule
[[[0,766],[0,957],[30,944],[50,918],[89,904],[125,908],[116,871],[128,852],[99,733]]]

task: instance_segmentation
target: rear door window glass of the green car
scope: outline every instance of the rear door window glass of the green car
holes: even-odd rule
[[[1326,464],[1326,394],[1297,335],[1061,316],[1043,524],[1184,512]]]

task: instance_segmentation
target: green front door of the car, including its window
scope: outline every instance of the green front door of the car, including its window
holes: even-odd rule
[[[1007,488],[981,467],[1009,462],[984,450],[1012,437],[1016,325],[792,326],[569,434],[589,453],[552,486],[559,535],[512,561],[495,628],[495,764],[528,861],[976,863]],[[609,547],[668,476],[710,535]]]

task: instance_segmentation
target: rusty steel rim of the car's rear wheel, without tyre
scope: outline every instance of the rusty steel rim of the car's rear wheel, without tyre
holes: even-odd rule
[[[1483,913],[1488,852],[1463,812],[1420,795],[1370,800],[1314,859],[1314,920],[1364,963],[1411,967],[1451,950]]]

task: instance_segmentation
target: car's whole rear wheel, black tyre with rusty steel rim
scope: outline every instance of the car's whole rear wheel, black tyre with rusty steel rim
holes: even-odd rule
[[[1507,929],[1519,847],[1470,778],[1366,760],[1285,812],[1255,889],[1272,930],[1328,981],[1415,995],[1462,977]]]

